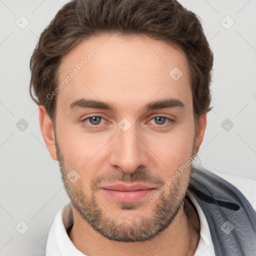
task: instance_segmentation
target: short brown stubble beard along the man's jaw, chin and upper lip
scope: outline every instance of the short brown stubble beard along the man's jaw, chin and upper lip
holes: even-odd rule
[[[75,183],[70,182],[67,178],[66,174],[69,172],[69,168],[65,164],[64,156],[61,153],[57,141],[56,150],[62,181],[72,206],[95,231],[109,240],[136,242],[153,238],[168,227],[173,222],[177,213],[183,210],[183,200],[190,178],[190,168],[186,170],[189,172],[189,177],[187,178],[186,173],[181,174],[177,178],[177,182],[170,185],[167,195],[166,192],[165,194],[160,194],[154,202],[149,202],[148,200],[148,203],[155,204],[148,217],[139,218],[138,211],[136,219],[120,221],[109,213],[107,205],[102,205],[95,195],[98,188],[97,184],[102,180],[102,177],[98,177],[92,181],[92,192],[85,194],[87,189],[80,182],[81,178]],[[141,169],[137,169],[132,173],[121,173],[118,171],[116,175],[113,174],[111,180],[114,176],[119,181],[143,182],[150,180],[154,183],[164,184],[164,181],[159,176],[150,176],[147,171]],[[137,209],[141,204],[140,202],[119,202],[116,206],[118,210],[129,211]],[[143,212],[143,207],[141,212]]]

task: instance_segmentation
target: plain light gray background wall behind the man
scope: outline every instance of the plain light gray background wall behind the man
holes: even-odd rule
[[[1,256],[27,255],[27,244],[45,253],[40,241],[68,201],[58,164],[41,136],[38,107],[28,94],[33,48],[65,2],[0,0]],[[201,163],[210,170],[256,179],[256,0],[180,2],[200,16],[214,53],[213,110],[200,147]],[[29,21],[24,29],[15,24],[21,23],[21,15]],[[234,24],[226,29],[231,19]],[[28,123],[23,131],[16,127],[21,118]],[[221,126],[226,118],[228,130],[226,123]],[[15,229],[21,220],[29,226],[23,235]]]

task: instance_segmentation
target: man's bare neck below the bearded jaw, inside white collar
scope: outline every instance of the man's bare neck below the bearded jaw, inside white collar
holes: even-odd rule
[[[200,236],[198,215],[187,199],[172,223],[155,237],[141,242],[111,241],[97,233],[73,208],[74,224],[69,237],[85,255],[193,255]]]

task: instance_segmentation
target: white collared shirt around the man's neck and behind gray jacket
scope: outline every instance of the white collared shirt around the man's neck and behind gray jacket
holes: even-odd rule
[[[217,171],[212,172],[236,186],[256,211],[256,180]],[[189,191],[188,196],[197,210],[200,221],[200,239],[194,256],[215,256],[206,217],[196,199]],[[86,256],[74,246],[67,235],[66,230],[72,223],[72,208],[69,202],[58,210],[54,222],[50,227],[46,243],[46,256]]]

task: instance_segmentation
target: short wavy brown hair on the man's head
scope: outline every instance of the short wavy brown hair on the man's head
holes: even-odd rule
[[[58,84],[61,58],[81,40],[105,32],[143,34],[180,48],[189,63],[194,117],[211,109],[213,54],[196,14],[176,0],[72,0],[40,34],[30,59],[30,96],[53,122],[56,100],[47,94]]]

